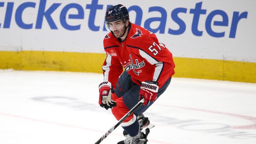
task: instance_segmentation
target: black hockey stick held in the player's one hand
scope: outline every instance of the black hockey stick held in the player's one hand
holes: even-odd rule
[[[108,130],[96,143],[101,143],[111,132],[113,132],[129,115],[131,115],[138,107],[140,107],[144,103],[144,98],[141,99],[128,113],[126,113],[117,124],[115,124],[111,129]]]

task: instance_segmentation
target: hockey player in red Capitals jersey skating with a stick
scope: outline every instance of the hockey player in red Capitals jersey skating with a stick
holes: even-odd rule
[[[118,144],[146,144],[149,129],[145,133],[141,129],[149,120],[142,113],[168,87],[175,67],[172,54],[154,33],[129,21],[124,5],[108,8],[105,20],[110,32],[103,41],[106,60],[99,104],[111,108],[120,120],[143,96],[143,105],[121,124],[126,139]]]

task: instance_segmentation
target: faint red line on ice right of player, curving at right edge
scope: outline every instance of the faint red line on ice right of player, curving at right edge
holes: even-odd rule
[[[229,116],[232,116],[232,117],[238,117],[238,118],[250,120],[250,121],[252,121],[254,123],[251,124],[251,125],[244,125],[244,126],[232,126],[231,128],[233,128],[233,129],[256,129],[256,117],[252,117],[252,116],[244,116],[244,115],[238,115],[238,114],[232,114],[232,113],[217,112],[217,111],[202,110],[202,109],[196,109],[196,108],[172,106],[172,105],[164,105],[164,104],[155,104],[155,105],[166,106],[166,107],[182,108],[182,109],[189,109],[189,110],[196,110],[196,111],[203,111],[203,112],[209,112],[209,113],[229,115]]]

